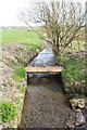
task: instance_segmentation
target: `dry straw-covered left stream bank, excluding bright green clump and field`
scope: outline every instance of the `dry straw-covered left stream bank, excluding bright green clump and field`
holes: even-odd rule
[[[17,128],[21,121],[24,95],[27,90],[27,77],[24,69],[24,66],[27,65],[27,54],[29,60],[33,60],[41,49],[37,48],[33,51],[28,46],[21,43],[11,43],[2,47],[2,64],[0,64],[2,74],[0,95],[2,96],[0,96],[0,103],[12,103],[16,107],[16,117],[9,122],[1,122],[0,118],[0,128]]]

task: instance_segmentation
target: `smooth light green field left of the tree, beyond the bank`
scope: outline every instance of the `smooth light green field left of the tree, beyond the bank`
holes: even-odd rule
[[[38,31],[38,30],[37,30]],[[28,29],[3,29],[2,30],[2,44],[8,43],[22,43],[30,48],[41,48],[42,39],[37,32]]]

